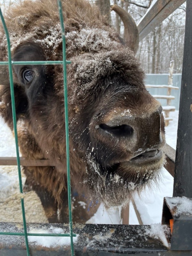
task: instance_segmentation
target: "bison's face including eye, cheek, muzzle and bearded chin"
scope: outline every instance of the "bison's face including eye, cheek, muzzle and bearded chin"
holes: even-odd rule
[[[14,60],[34,58],[47,59],[36,43],[22,44],[14,53]],[[84,189],[106,206],[125,203],[132,193],[156,179],[163,166],[162,107],[145,89],[139,63],[126,48],[85,53],[71,62],[67,70],[71,156],[76,164],[84,162],[80,166],[83,175],[74,163],[71,172],[83,177]],[[62,68],[33,65],[14,69],[28,100],[36,141],[63,172]],[[80,178],[73,178],[73,184],[79,183]]]

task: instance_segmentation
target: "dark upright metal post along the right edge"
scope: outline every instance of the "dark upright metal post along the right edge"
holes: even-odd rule
[[[192,197],[192,1],[187,0],[173,196]]]

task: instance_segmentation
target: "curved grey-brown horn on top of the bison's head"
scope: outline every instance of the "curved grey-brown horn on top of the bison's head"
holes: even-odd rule
[[[136,54],[139,47],[139,32],[131,15],[117,4],[111,5],[111,11],[115,11],[124,24],[124,40],[127,46]]]

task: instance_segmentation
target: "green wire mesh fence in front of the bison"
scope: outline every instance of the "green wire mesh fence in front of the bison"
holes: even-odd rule
[[[62,14],[62,5],[61,1],[57,0],[59,16],[60,16],[60,25],[61,25],[61,35],[62,35],[62,51],[63,51],[63,60],[58,61],[12,61],[11,60],[11,44],[9,39],[9,33],[4,21],[4,17],[0,8],[0,17],[4,27],[5,35],[7,38],[7,49],[8,49],[8,61],[0,62],[0,65],[8,65],[9,68],[9,78],[10,78],[10,89],[11,89],[11,100],[12,100],[12,116],[13,116],[13,127],[15,134],[15,145],[16,145],[16,154],[17,154],[17,166],[19,174],[19,186],[21,193],[21,209],[23,217],[23,228],[24,233],[12,233],[12,232],[0,232],[0,235],[14,235],[14,236],[25,236],[27,256],[30,256],[28,236],[69,236],[71,244],[71,255],[74,255],[73,247],[73,236],[76,234],[73,233],[72,227],[72,212],[71,212],[71,185],[70,185],[70,164],[69,164],[69,132],[68,132],[68,99],[67,99],[67,64],[70,64],[70,61],[66,60],[66,41],[65,41],[65,28],[63,24],[63,14]],[[36,234],[27,232],[27,224],[25,218],[25,206],[23,199],[23,188],[21,180],[21,169],[20,169],[20,157],[19,157],[19,147],[18,147],[18,136],[17,136],[17,122],[16,122],[16,110],[15,110],[15,97],[14,97],[14,86],[13,86],[13,76],[12,76],[12,65],[53,65],[60,64],[63,65],[63,84],[64,84],[64,101],[65,101],[65,132],[66,132],[66,155],[67,155],[67,182],[68,182],[68,208],[69,208],[69,233],[67,234]]]

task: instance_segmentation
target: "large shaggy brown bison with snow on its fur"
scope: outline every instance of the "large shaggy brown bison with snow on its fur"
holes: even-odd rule
[[[68,0],[62,5],[71,60],[67,79],[73,220],[85,222],[99,203],[124,204],[157,179],[164,162],[164,118],[159,102],[144,86],[135,58],[138,30],[130,15],[112,7],[124,22],[122,39],[89,2]],[[56,1],[11,5],[5,20],[14,61],[62,60]],[[5,61],[2,27],[0,44]],[[62,65],[14,66],[13,77],[20,152],[26,159],[52,163],[23,167],[24,188],[36,191],[50,222],[67,222]],[[0,84],[0,113],[13,129],[7,66],[1,66]]]

